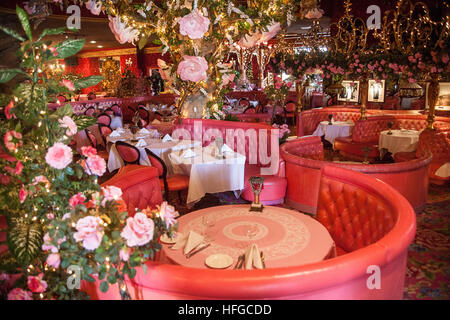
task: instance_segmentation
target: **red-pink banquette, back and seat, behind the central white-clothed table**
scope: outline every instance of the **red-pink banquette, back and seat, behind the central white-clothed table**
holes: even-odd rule
[[[182,129],[185,129],[184,131]],[[252,123],[252,122],[235,122],[235,121],[222,121],[222,120],[210,120],[210,119],[183,119],[181,124],[177,124],[173,131],[174,137],[183,137],[184,139],[201,140],[203,146],[207,146],[214,141],[213,136],[222,137],[224,143],[229,145],[234,151],[243,153],[246,156],[245,166],[245,185],[242,191],[241,197],[248,201],[253,201],[253,191],[251,189],[248,179],[251,176],[264,176],[264,189],[261,191],[260,200],[265,205],[274,205],[284,202],[284,196],[286,194],[287,181],[284,176],[284,170],[280,170],[283,167],[283,163],[279,161],[279,145],[278,137],[274,137],[274,144],[271,143],[271,129],[269,124],[266,123]],[[183,132],[189,133],[188,137],[183,136]],[[241,139],[233,138],[231,143],[230,138],[234,133],[238,133]],[[250,137],[253,137],[252,143]],[[256,143],[254,143],[254,142]],[[262,141],[267,142],[267,151],[264,150]],[[272,150],[272,146],[274,150]],[[272,155],[272,151],[276,152],[278,158],[276,163],[273,164],[273,174],[262,175],[260,172],[261,167],[268,167],[271,164],[267,161],[262,161],[261,150],[264,154]]]

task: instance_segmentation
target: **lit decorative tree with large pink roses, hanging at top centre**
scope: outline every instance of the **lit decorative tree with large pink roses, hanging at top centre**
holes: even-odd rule
[[[83,0],[84,1],[84,0]],[[110,28],[120,43],[138,41],[143,48],[156,37],[162,52],[173,62],[173,91],[179,95],[178,112],[184,117],[202,117],[221,103],[222,88],[231,65],[224,55],[237,41],[246,45],[267,42],[280,30],[280,23],[293,20],[290,0],[167,0],[131,4],[126,0],[98,1],[110,19]]]

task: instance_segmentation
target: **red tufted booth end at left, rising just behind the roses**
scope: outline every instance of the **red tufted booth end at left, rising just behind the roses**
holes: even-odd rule
[[[116,186],[122,189],[122,199],[127,205],[129,215],[134,215],[135,208],[155,208],[162,203],[159,174],[155,167],[123,166],[101,186]]]

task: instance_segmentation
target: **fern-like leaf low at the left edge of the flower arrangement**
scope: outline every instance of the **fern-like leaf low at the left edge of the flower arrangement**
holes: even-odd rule
[[[41,253],[41,226],[22,218],[12,218],[8,226],[8,246],[14,258],[21,265],[30,264]]]

